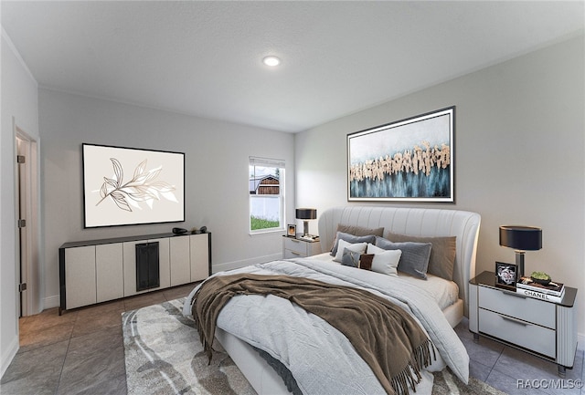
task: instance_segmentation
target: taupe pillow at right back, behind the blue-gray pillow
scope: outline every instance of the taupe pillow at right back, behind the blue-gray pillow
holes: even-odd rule
[[[445,280],[453,280],[453,267],[455,265],[455,253],[457,238],[455,236],[424,237],[410,236],[408,234],[393,234],[388,232],[385,238],[394,243],[415,242],[431,243],[431,257],[427,273],[438,275]]]

